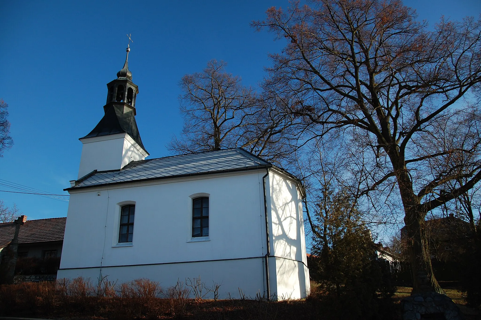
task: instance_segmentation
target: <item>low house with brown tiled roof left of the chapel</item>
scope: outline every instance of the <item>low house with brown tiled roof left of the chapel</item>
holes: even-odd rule
[[[27,220],[18,234],[19,257],[60,257],[66,218]],[[15,233],[15,223],[0,223],[0,254],[7,248]]]

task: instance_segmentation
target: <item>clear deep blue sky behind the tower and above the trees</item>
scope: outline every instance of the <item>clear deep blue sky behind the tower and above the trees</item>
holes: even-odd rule
[[[441,15],[459,20],[481,13],[479,0],[405,1],[430,24]],[[284,40],[254,32],[265,1],[1,1],[0,98],[10,105],[12,149],[0,158],[0,179],[51,193],[65,193],[75,179],[78,138],[103,115],[107,87],[124,64],[126,33],[134,41],[129,69],[139,86],[137,123],[153,157],[182,128],[178,81],[210,59],[255,86]],[[12,190],[0,186],[0,190]],[[0,192],[29,219],[64,217],[66,202]]]

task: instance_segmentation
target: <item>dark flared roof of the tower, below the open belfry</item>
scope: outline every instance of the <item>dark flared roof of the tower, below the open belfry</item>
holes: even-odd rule
[[[127,133],[142,149],[147,151],[140,139],[139,128],[135,121],[134,111],[124,113],[124,102],[111,102],[97,126],[84,138],[100,137],[109,134]],[[148,152],[147,152],[148,153]]]

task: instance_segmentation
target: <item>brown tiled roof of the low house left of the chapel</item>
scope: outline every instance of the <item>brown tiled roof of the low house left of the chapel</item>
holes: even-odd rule
[[[20,227],[18,243],[63,241],[66,221],[66,217],[26,220]],[[0,248],[12,241],[14,233],[14,222],[0,223]]]

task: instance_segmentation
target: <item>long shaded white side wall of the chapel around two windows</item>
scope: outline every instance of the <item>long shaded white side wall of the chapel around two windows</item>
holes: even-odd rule
[[[231,295],[238,293],[238,287],[252,297],[258,290],[262,294],[265,275],[260,257],[266,253],[264,174],[260,170],[71,192],[61,269],[102,265],[106,274],[120,282],[147,277],[167,286],[175,284],[177,278],[201,275],[207,284],[212,280],[223,282],[222,289]],[[199,193],[208,194],[210,199],[209,238],[189,242],[190,196]],[[136,205],[133,242],[132,246],[118,247],[120,207],[126,202]],[[259,258],[105,268],[250,257]],[[96,279],[98,271],[59,270],[58,278],[85,274]]]

